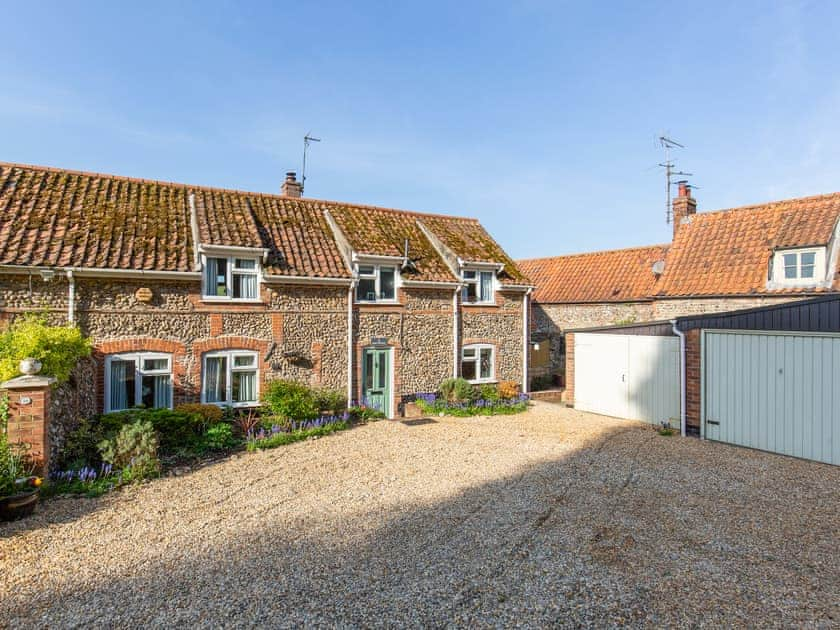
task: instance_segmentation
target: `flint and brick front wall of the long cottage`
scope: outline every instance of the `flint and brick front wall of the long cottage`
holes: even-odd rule
[[[144,301],[140,289],[150,289]],[[76,277],[75,320],[93,338],[89,361],[54,388],[52,449],[80,418],[104,408],[104,361],[119,352],[172,354],[173,402],[200,399],[201,355],[217,349],[259,353],[263,381],[293,379],[346,391],[346,286],[264,284],[259,304],[206,302],[200,283],[184,280]],[[400,289],[397,305],[354,305],[353,391],[359,397],[360,353],[374,337],[395,348],[394,410],[402,396],[434,391],[452,376],[453,289]],[[522,378],[522,295],[499,291],[495,306],[459,306],[462,343],[496,347],[498,380]],[[0,274],[0,326],[26,312],[67,322],[68,280]]]

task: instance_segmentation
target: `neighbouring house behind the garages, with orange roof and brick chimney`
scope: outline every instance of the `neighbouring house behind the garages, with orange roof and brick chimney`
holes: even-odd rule
[[[669,244],[519,260],[536,285],[531,377],[563,382],[564,333],[840,290],[840,193],[697,212],[680,182]],[[546,346],[550,347],[545,352]]]

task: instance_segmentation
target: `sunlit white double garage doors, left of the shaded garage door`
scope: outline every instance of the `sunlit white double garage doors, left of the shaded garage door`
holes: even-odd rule
[[[575,408],[659,424],[680,416],[676,337],[575,334]]]

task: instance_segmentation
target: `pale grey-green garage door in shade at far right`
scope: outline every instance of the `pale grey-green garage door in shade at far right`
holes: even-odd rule
[[[840,336],[704,334],[705,435],[840,464]]]

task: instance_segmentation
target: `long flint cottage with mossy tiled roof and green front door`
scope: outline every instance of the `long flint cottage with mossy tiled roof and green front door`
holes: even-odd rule
[[[257,404],[266,381],[391,417],[448,377],[527,389],[531,283],[472,218],[0,163],[0,323],[93,338],[78,413]]]

